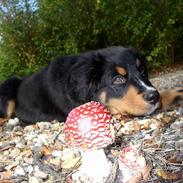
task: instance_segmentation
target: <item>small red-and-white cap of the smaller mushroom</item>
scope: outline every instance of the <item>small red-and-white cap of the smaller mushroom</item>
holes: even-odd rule
[[[142,153],[133,145],[129,145],[120,151],[119,161],[132,170],[146,166],[146,160]]]

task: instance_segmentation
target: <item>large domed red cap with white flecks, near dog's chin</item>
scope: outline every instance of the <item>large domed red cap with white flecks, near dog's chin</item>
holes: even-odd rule
[[[110,112],[99,102],[88,102],[73,109],[64,126],[67,145],[100,149],[113,142],[114,130]]]

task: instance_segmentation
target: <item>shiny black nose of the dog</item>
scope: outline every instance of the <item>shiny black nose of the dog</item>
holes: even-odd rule
[[[159,101],[160,95],[157,90],[148,91],[144,95],[144,100],[150,104],[156,104]]]

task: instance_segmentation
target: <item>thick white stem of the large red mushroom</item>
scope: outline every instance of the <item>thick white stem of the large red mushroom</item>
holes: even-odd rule
[[[92,183],[102,183],[110,174],[111,162],[103,149],[80,151],[82,165],[80,171],[90,177]]]

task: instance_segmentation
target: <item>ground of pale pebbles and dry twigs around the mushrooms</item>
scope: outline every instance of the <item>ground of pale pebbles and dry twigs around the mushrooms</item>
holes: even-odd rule
[[[153,73],[152,83],[164,90],[183,85],[183,70]],[[17,118],[0,126],[0,183],[72,183],[80,165],[77,150],[64,143],[63,124],[39,122],[19,126]],[[166,111],[144,118],[115,119],[115,144],[106,149],[111,160],[129,141],[140,144],[152,170],[146,182],[183,182],[183,107],[179,102]],[[114,181],[113,181],[114,182]]]

